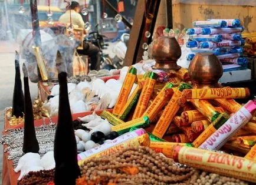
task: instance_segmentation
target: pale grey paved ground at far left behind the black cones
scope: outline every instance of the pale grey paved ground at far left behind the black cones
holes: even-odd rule
[[[18,46],[8,42],[0,41],[0,135],[4,129],[4,109],[12,106],[12,93],[14,90],[14,58],[15,49],[18,51]],[[20,61],[22,65],[23,61]],[[22,72],[21,72],[22,73]],[[23,79],[23,78],[22,78]],[[23,81],[23,80],[22,80]],[[30,84],[31,98],[37,96],[37,84]],[[2,146],[0,146],[0,184],[2,182]]]

